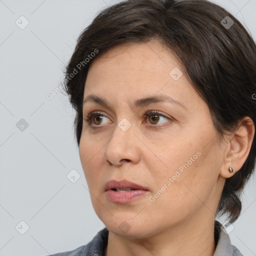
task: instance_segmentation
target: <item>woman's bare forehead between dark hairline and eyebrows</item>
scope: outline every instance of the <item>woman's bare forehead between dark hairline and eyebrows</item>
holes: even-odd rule
[[[157,93],[186,101],[187,107],[199,100],[176,57],[160,42],[150,41],[117,45],[92,60],[84,98],[97,94],[110,101],[133,101]]]

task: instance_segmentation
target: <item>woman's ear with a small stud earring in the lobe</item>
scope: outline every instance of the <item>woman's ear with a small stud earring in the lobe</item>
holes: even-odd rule
[[[229,178],[242,167],[249,155],[254,132],[253,121],[250,117],[245,116],[240,120],[236,131],[228,135],[220,176]],[[229,166],[234,170],[232,173],[228,171]]]

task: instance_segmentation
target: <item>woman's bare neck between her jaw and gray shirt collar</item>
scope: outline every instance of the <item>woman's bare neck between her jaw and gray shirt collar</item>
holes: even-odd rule
[[[214,219],[182,221],[147,237],[130,237],[109,230],[104,256],[213,256],[215,251]],[[196,224],[195,224],[196,223]]]

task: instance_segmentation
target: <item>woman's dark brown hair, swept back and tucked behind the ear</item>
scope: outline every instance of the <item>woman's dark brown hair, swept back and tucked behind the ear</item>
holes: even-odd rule
[[[103,9],[81,32],[64,71],[64,90],[76,111],[78,146],[89,64],[113,46],[151,39],[159,40],[180,60],[207,103],[220,137],[234,131],[244,116],[255,126],[256,45],[233,15],[207,0],[126,0]],[[240,214],[239,196],[253,171],[255,154],[254,135],[241,169],[225,181],[216,214],[228,213],[231,223]]]

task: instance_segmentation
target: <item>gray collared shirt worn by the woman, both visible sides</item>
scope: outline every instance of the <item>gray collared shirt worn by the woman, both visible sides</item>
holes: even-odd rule
[[[229,235],[221,228],[221,223],[215,220],[214,235],[217,238],[217,246],[213,256],[243,256],[241,252],[231,244]],[[108,230],[103,228],[86,245],[74,250],[60,252],[51,256],[104,256],[107,245]]]

